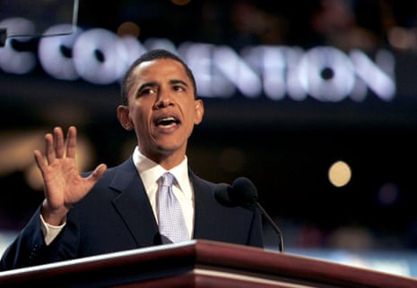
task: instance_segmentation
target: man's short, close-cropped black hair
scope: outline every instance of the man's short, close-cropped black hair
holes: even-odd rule
[[[150,51],[147,51],[145,53],[143,53],[143,55],[140,55],[139,58],[137,58],[135,60],[135,62],[133,64],[131,64],[129,66],[129,68],[127,69],[125,76],[122,79],[121,82],[121,100],[122,100],[122,105],[127,105],[128,101],[127,101],[127,92],[129,91],[129,89],[132,87],[132,72],[135,70],[135,67],[139,64],[142,64],[143,62],[147,62],[147,61],[152,61],[155,59],[172,59],[175,61],[178,61],[180,64],[183,65],[184,69],[186,70],[187,76],[189,77],[189,79],[191,80],[191,83],[193,85],[194,88],[194,97],[196,98],[197,95],[197,88],[196,88],[196,84],[195,84],[195,78],[194,78],[194,74],[191,71],[191,69],[188,67],[188,65],[178,56],[175,55],[174,53],[166,50],[166,49],[153,49]]]

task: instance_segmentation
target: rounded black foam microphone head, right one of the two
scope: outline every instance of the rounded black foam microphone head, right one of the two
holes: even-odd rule
[[[257,202],[257,191],[253,182],[246,177],[237,178],[230,189],[230,200],[239,205],[253,205]]]

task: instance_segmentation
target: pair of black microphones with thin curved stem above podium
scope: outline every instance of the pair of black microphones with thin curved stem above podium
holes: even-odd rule
[[[283,252],[283,238],[280,228],[274,220],[266,213],[265,209],[257,201],[257,191],[253,182],[246,177],[237,178],[231,186],[226,183],[219,183],[214,187],[214,197],[222,205],[227,207],[255,206],[273,227],[280,238],[279,250]]]

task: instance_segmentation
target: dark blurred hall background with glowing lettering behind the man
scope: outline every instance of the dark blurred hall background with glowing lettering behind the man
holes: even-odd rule
[[[54,126],[77,126],[83,171],[132,153],[119,80],[165,47],[204,100],[196,174],[254,182],[288,253],[417,275],[416,27],[413,0],[0,1],[0,249],[43,199]]]

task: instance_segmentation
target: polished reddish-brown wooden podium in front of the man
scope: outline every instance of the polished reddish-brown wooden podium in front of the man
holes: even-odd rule
[[[1,287],[417,287],[417,279],[194,240],[0,273]]]

